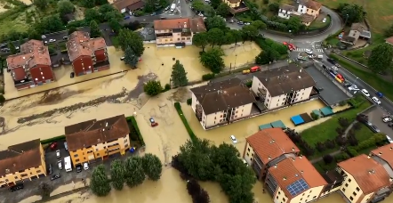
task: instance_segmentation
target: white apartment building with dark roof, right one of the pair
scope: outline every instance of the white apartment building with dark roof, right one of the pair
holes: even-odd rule
[[[309,73],[291,63],[257,73],[251,89],[268,110],[273,110],[309,100],[315,85]]]

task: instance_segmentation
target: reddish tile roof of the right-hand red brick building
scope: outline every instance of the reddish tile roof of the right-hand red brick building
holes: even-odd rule
[[[88,32],[75,31],[68,36],[66,44],[70,61],[79,56],[91,56],[95,51],[105,49],[107,44],[102,37],[90,38]]]

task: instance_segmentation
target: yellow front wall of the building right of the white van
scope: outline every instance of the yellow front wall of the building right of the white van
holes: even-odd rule
[[[117,139],[113,142],[104,142],[97,145],[92,145],[89,148],[83,148],[80,150],[69,151],[69,156],[72,160],[72,165],[83,164],[85,162],[90,162],[93,159],[109,156],[115,153],[124,155],[126,150],[130,149],[130,139],[128,134],[124,137]]]

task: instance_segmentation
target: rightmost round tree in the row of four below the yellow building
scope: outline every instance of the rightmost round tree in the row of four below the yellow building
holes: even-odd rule
[[[160,158],[151,153],[146,153],[145,156],[142,157],[142,163],[145,175],[148,175],[148,178],[152,181],[158,181],[163,172],[163,164]]]

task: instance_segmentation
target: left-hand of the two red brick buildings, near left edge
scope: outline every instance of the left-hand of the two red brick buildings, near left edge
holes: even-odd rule
[[[55,80],[48,46],[42,41],[32,39],[20,45],[20,53],[8,56],[7,64],[18,90]]]

